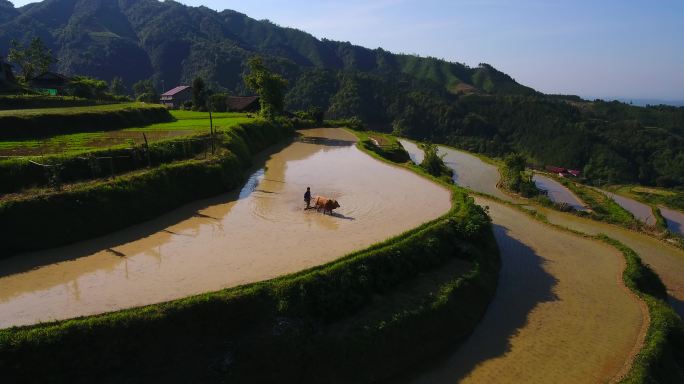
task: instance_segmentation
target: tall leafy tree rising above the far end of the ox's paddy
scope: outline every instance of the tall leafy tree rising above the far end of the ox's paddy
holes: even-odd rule
[[[245,84],[258,93],[261,115],[267,118],[283,112],[287,80],[266,68],[261,57],[253,57],[248,62],[250,72],[245,76]]]

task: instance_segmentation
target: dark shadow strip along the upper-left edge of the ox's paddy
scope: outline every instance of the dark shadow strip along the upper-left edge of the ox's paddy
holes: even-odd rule
[[[252,161],[252,166],[249,168],[249,170],[245,171],[245,174],[252,175],[255,172],[263,169],[266,162],[272,155],[282,151],[291,143],[292,142],[290,140],[285,140],[284,143],[270,147],[267,150],[255,155]],[[171,212],[158,216],[152,220],[131,225],[130,227],[112,232],[105,236],[80,241],[58,248],[18,254],[10,258],[0,260],[0,278],[27,272],[45,265],[76,260],[82,257],[90,256],[100,251],[106,251],[111,254],[112,257],[123,259],[128,255],[119,252],[116,250],[116,247],[148,237],[157,232],[166,232],[170,235],[177,235],[178,233],[170,231],[168,228],[192,217],[204,218],[212,222],[217,222],[220,225],[220,218],[205,215],[200,211],[210,206],[226,204],[246,198],[253,192],[253,190],[243,194],[240,192],[248,182],[249,180],[246,179],[239,187],[231,191],[207,199],[194,201]],[[227,213],[228,212],[226,212],[226,214]],[[199,226],[199,222],[197,225]],[[91,271],[82,271],[82,273],[88,272]]]

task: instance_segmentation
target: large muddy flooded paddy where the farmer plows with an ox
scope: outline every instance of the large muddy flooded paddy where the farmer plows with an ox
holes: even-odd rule
[[[337,259],[450,209],[450,193],[312,129],[267,156],[239,191],[71,246],[0,261],[0,326],[156,303]],[[334,216],[303,194],[336,198]]]

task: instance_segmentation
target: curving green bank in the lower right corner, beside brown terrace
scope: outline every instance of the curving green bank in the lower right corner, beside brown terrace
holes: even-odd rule
[[[625,285],[646,302],[651,322],[644,345],[622,383],[681,383],[684,381],[684,323],[667,303],[665,286],[632,249],[611,238],[601,239],[624,255]]]

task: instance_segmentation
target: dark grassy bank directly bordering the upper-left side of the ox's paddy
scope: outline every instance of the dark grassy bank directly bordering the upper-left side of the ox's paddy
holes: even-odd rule
[[[255,121],[221,132],[217,154],[203,160],[5,199],[0,202],[0,257],[103,235],[233,189],[251,155],[291,135],[292,128]]]

